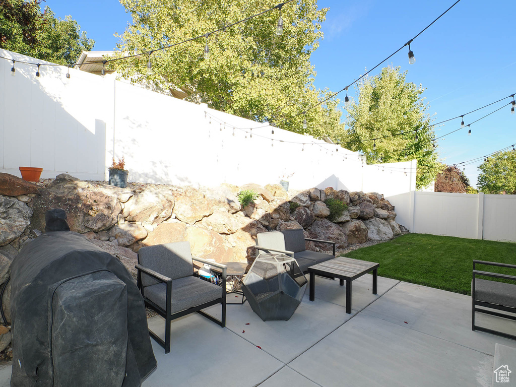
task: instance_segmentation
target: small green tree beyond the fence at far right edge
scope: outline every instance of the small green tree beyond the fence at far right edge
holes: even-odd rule
[[[478,169],[479,191],[516,194],[516,152],[497,153],[480,164]]]

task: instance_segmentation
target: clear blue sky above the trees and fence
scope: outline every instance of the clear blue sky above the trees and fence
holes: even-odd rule
[[[338,91],[396,51],[446,10],[453,0],[319,0],[329,8],[322,24],[324,40],[312,56],[316,86]],[[94,50],[112,50],[130,14],[116,0],[70,2],[47,0],[58,17],[72,15]],[[456,117],[516,92],[516,8],[510,3],[461,0],[411,44],[416,63],[409,65],[405,47],[384,65],[408,70],[408,82],[427,88],[423,96],[434,122]],[[372,74],[376,74],[374,71]],[[354,90],[350,90],[350,96]],[[344,95],[342,96],[342,99]],[[465,118],[467,125],[509,99]],[[441,136],[460,127],[460,119],[436,127]],[[516,143],[516,115],[510,107],[439,140],[440,157],[457,164]],[[473,185],[481,162],[467,165]]]

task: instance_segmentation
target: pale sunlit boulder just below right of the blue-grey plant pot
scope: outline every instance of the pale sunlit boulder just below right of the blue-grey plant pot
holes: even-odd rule
[[[193,203],[192,203],[193,206]],[[174,197],[169,189],[146,189],[125,204],[124,215],[130,222],[158,224],[167,220],[174,209]]]

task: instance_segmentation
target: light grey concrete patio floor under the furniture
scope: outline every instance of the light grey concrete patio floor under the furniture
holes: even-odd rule
[[[307,288],[289,321],[264,322],[247,302],[228,305],[224,329],[198,314],[173,321],[171,353],[151,340],[158,368],[143,386],[489,386],[495,343],[516,348],[514,341],[471,330],[469,296],[381,277],[374,296],[366,275],[353,281],[347,315],[345,288],[316,281],[315,301]],[[220,307],[208,312],[218,316]],[[516,328],[497,317],[477,318]],[[149,325],[164,334],[162,318]],[[0,378],[1,386],[9,385],[9,366]]]

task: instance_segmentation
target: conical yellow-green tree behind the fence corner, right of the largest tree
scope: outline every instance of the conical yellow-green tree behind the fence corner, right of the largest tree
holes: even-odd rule
[[[364,152],[371,164],[417,159],[416,186],[422,188],[442,167],[432,144],[428,106],[421,96],[425,89],[405,82],[406,75],[399,67],[389,66],[359,82],[357,101],[350,100],[347,109],[342,143],[345,148]]]

